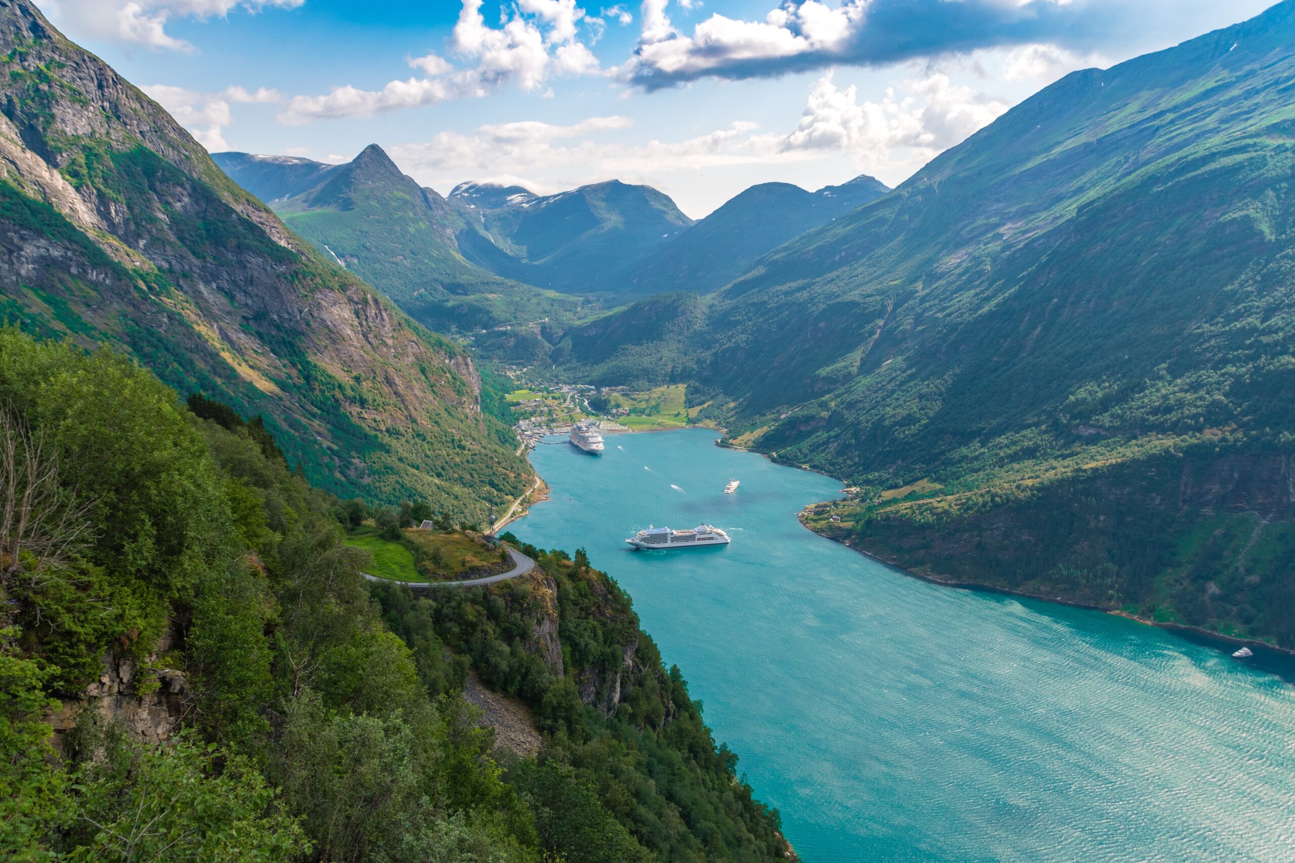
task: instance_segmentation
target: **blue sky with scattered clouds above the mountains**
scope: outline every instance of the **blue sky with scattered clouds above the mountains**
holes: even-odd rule
[[[1272,0],[36,0],[211,150],[377,142],[442,193],[620,179],[703,216],[895,185],[1062,75]]]

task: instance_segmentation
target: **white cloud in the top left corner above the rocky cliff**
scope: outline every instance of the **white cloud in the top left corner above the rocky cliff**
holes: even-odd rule
[[[74,39],[104,39],[148,48],[193,50],[193,45],[167,34],[176,18],[223,18],[234,9],[295,9],[306,0],[48,0],[41,8],[51,21]]]

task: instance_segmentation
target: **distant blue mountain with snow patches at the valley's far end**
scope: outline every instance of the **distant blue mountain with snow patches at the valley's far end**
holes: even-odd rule
[[[556,195],[465,182],[449,193],[449,202],[490,239],[488,247],[461,243],[469,260],[571,294],[624,291],[628,267],[693,224],[660,191],[619,180]]]

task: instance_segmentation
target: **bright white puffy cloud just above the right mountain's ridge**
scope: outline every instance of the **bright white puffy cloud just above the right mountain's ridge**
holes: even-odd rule
[[[839,89],[829,72],[815,84],[800,123],[778,149],[840,150],[860,168],[888,175],[925,164],[1008,110],[941,72],[904,82],[900,89],[904,96],[888,88],[881,102],[860,102],[853,85]]]

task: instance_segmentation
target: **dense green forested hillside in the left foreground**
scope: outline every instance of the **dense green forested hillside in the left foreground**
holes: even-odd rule
[[[192,402],[207,418],[119,355],[0,330],[6,859],[783,858],[583,552],[370,594],[356,507]],[[470,674],[534,708],[537,754],[493,748]]]

